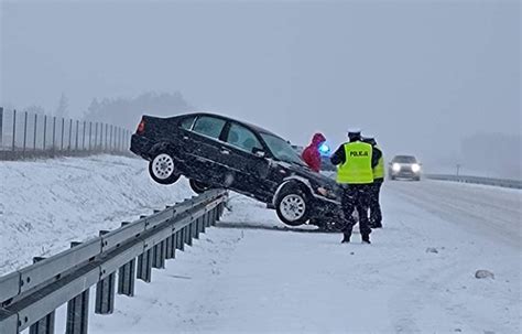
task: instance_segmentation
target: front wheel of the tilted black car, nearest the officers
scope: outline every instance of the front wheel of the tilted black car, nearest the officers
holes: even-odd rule
[[[309,218],[311,203],[307,193],[298,184],[289,184],[278,194],[275,213],[286,225],[300,226]]]

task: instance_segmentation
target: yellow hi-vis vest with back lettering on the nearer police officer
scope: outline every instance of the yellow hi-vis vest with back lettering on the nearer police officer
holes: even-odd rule
[[[372,147],[369,143],[354,141],[345,143],[345,163],[337,169],[337,183],[369,184],[373,183],[371,169]]]

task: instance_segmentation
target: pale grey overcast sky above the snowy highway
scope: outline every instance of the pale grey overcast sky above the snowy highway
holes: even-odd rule
[[[520,15],[518,1],[2,1],[0,103],[54,110],[64,91],[74,116],[180,90],[293,142],[360,127],[393,153],[450,155],[521,131]]]

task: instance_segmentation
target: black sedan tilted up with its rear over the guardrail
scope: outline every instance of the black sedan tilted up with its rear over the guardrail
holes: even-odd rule
[[[257,126],[213,114],[143,116],[131,151],[150,161],[150,175],[161,184],[185,175],[197,193],[229,188],[267,203],[292,226],[339,219],[335,181],[311,171],[286,140]]]

